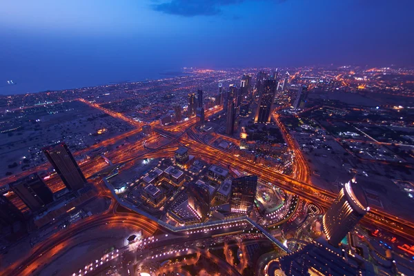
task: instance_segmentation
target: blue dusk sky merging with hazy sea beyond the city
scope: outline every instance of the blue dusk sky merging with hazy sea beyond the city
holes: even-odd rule
[[[184,66],[412,66],[413,10],[412,0],[2,0],[0,94]]]

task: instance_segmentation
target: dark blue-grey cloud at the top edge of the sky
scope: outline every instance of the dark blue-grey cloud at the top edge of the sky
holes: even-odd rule
[[[245,0],[168,0],[152,5],[152,10],[182,17],[221,14],[221,7],[242,3]]]

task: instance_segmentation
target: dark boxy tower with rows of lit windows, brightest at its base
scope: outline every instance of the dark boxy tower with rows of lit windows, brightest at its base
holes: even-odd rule
[[[233,181],[231,181],[231,211],[237,213],[249,213],[255,203],[256,189],[256,175],[233,179]]]

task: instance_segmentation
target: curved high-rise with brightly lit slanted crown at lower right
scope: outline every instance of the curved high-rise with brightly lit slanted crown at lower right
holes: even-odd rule
[[[322,218],[328,242],[337,246],[368,210],[364,190],[354,181],[348,181]]]

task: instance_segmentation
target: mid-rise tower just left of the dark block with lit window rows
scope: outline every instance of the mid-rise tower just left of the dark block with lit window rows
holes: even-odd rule
[[[200,180],[188,185],[188,206],[197,213],[201,221],[205,221],[210,215],[210,204],[213,200],[214,191],[215,188]]]

